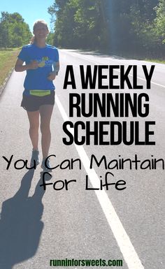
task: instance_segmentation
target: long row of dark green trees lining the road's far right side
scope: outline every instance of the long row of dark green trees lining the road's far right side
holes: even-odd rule
[[[55,0],[48,12],[57,46],[164,54],[165,0]]]

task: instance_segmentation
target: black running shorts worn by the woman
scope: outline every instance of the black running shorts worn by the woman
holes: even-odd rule
[[[40,106],[54,105],[55,104],[55,91],[50,92],[46,96],[26,96],[23,94],[21,106],[27,111],[37,111]]]

